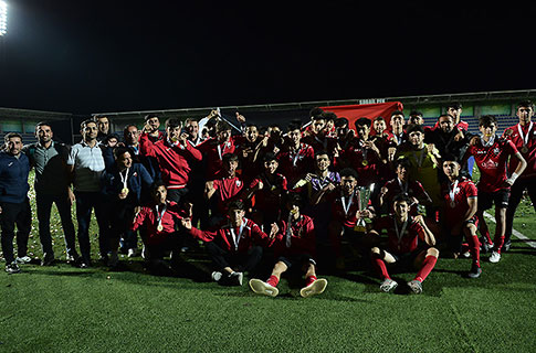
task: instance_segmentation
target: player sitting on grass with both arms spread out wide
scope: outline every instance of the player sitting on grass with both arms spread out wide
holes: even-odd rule
[[[214,229],[201,231],[183,218],[182,226],[195,238],[204,242],[204,248],[214,264],[212,279],[220,285],[242,286],[243,272],[251,272],[261,261],[263,247],[273,244],[278,227],[272,224],[270,235],[244,217],[242,201],[231,201],[228,216]]]

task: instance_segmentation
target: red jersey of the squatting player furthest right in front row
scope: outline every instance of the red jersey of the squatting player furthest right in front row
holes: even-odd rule
[[[388,250],[390,253],[408,254],[414,252],[419,245],[419,238],[424,238],[424,229],[412,216],[408,216],[406,229],[403,229],[403,225],[396,222],[395,215],[382,216],[372,223],[372,228],[377,232],[387,231]],[[400,238],[398,233],[401,233]]]

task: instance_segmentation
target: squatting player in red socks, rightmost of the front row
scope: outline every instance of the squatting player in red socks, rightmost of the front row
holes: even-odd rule
[[[422,281],[435,266],[439,250],[434,248],[435,238],[428,228],[422,215],[412,217],[409,215],[411,200],[400,194],[395,197],[395,216],[383,216],[374,222],[374,235],[379,235],[381,229],[387,231],[388,249],[378,247],[371,249],[372,266],[380,275],[382,282],[380,289],[389,292],[398,284],[391,279],[387,271],[387,264],[413,265],[420,267],[416,278],[408,282],[410,289],[419,295],[422,292]],[[419,239],[424,242],[424,248],[419,245]],[[425,248],[428,246],[428,249]]]

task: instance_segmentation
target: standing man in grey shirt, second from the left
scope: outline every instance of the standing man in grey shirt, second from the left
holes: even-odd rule
[[[42,266],[54,263],[52,237],[50,233],[50,216],[52,204],[55,203],[65,236],[67,260],[76,261],[76,235],[71,217],[73,192],[69,188],[70,169],[67,168],[69,146],[53,140],[53,131],[49,122],[35,125],[36,143],[24,146],[23,152],[35,169],[35,204],[39,220],[39,238],[43,249]]]

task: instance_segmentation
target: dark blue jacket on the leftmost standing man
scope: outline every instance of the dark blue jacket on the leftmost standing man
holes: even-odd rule
[[[22,203],[30,190],[29,173],[30,161],[27,154],[21,153],[15,158],[0,151],[0,202]]]

